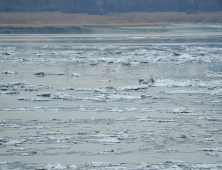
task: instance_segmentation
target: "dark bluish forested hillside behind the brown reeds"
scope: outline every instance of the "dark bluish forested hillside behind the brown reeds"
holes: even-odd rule
[[[112,14],[126,12],[216,12],[222,0],[0,0],[1,12]]]

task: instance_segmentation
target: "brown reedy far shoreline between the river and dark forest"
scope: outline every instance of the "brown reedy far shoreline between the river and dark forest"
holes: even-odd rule
[[[222,12],[133,12],[113,15],[64,14],[61,12],[0,12],[0,34],[93,33],[97,28],[116,31],[121,27],[170,27],[170,23],[222,23]]]

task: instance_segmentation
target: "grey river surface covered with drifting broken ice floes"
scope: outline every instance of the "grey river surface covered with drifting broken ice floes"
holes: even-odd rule
[[[1,34],[0,70],[0,169],[222,169],[222,25]]]

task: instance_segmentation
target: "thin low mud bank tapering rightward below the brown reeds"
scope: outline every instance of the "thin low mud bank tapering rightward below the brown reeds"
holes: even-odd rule
[[[103,33],[103,32],[125,32],[132,31],[133,27],[153,27],[162,28],[170,27],[171,24],[167,23],[150,23],[139,25],[85,25],[85,26],[0,26],[0,34],[89,34],[89,33]]]

